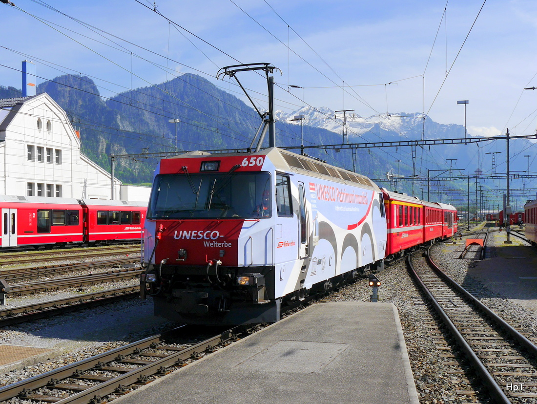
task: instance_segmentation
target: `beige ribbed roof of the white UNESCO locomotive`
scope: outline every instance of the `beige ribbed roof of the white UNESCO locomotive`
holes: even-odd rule
[[[292,171],[297,174],[305,174],[311,177],[330,179],[339,183],[359,184],[360,186],[369,187],[375,191],[380,191],[368,177],[355,172],[335,167],[322,161],[315,160],[309,156],[288,152],[287,150],[277,147],[271,147],[252,153],[219,153],[209,154],[206,152],[188,152],[171,158],[189,158],[189,157],[208,157],[208,156],[267,156],[275,165],[277,170]]]

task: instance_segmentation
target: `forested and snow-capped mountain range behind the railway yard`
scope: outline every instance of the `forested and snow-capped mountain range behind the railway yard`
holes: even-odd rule
[[[47,92],[67,112],[75,129],[81,133],[82,152],[108,171],[110,154],[173,152],[176,143],[179,151],[245,149],[250,146],[260,124],[258,114],[251,106],[194,74],[184,74],[110,98],[100,96],[91,78],[77,75],[59,76],[43,82],[38,85],[37,92]],[[0,86],[0,98],[20,96],[20,90]],[[303,116],[303,119],[295,119],[297,116]],[[179,119],[179,122],[170,123],[173,119]],[[386,178],[387,175],[393,180],[412,175],[426,178],[427,170],[457,169],[458,166],[466,170],[465,175],[474,175],[478,168],[476,145],[429,146],[413,150],[410,147],[360,148],[354,155],[343,147],[341,150],[320,148],[343,143],[459,139],[464,136],[462,125],[439,124],[421,113],[360,117],[349,111],[344,117],[341,112],[326,107],[305,106],[291,113],[277,111],[275,119],[278,146],[296,147],[293,151],[300,153],[303,144],[308,155],[338,167],[355,169],[370,178]],[[528,145],[527,140],[514,142],[521,143],[519,150]],[[268,146],[267,140],[263,146]],[[500,156],[497,163],[499,158],[505,158],[505,154]],[[415,165],[412,157],[415,157]],[[480,161],[484,161],[483,157]],[[475,161],[475,167],[469,167],[471,161]],[[153,157],[135,160],[125,156],[117,159],[114,174],[125,183],[147,184],[156,162],[157,158]],[[526,170],[525,163],[519,158],[511,170]],[[487,164],[491,167],[490,160]],[[481,169],[491,172],[492,167]],[[414,191],[419,197],[424,187],[423,181],[414,185],[422,191],[412,190],[410,182],[395,184],[391,181],[380,185],[391,189],[397,187],[407,193]],[[451,186],[461,189],[460,185]],[[490,187],[490,184],[484,186]]]

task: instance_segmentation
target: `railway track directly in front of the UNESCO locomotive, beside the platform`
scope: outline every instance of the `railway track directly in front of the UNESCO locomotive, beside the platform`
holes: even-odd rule
[[[181,326],[103,354],[0,388],[0,403],[98,404],[127,394],[226,346],[253,329],[235,327],[195,344],[200,330]],[[106,396],[110,396],[106,398]]]

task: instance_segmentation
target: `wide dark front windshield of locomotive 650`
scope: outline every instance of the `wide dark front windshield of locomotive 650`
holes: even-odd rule
[[[268,172],[157,175],[148,219],[257,219],[271,216]]]

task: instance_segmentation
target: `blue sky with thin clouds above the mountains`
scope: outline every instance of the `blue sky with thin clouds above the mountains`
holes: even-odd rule
[[[0,4],[4,86],[20,88],[21,61],[28,59],[47,79],[90,76],[105,97],[188,72],[240,95],[234,83],[216,81],[217,71],[269,62],[281,70],[275,74],[280,110],[325,106],[363,117],[425,112],[463,125],[456,101],[467,99],[470,134],[507,127],[512,134],[535,133],[537,91],[524,91],[537,86],[537,3],[531,0],[14,3]],[[240,80],[265,107],[264,79],[244,73]],[[289,85],[301,88],[288,91]]]

